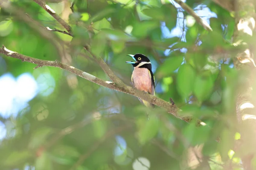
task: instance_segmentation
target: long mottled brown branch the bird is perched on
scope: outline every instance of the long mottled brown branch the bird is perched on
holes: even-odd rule
[[[58,61],[48,61],[48,60],[36,59],[36,58],[29,57],[29,56],[25,56],[23,54],[19,54],[14,51],[10,51],[5,46],[0,48],[0,53],[5,54],[6,56],[9,56],[12,58],[21,59],[21,61],[23,61],[23,62],[25,61],[25,62],[31,62],[33,64],[36,64],[36,65],[38,65],[37,68],[42,67],[42,66],[50,66],[50,67],[58,67],[58,68],[64,69],[66,71],[69,71],[70,73],[76,74],[79,77],[87,79],[90,82],[94,82],[103,87],[110,88],[110,89],[113,89],[116,91],[120,91],[120,92],[123,92],[126,94],[130,94],[132,96],[139,97],[147,102],[151,102],[154,105],[164,108],[166,111],[168,111],[168,113],[171,113],[175,117],[178,117],[177,116],[178,108],[176,107],[176,105],[172,105],[171,103],[166,102],[163,99],[158,98],[157,96],[145,94],[142,91],[139,91],[139,90],[132,88],[128,85],[124,85],[124,84],[120,85],[120,84],[114,84],[113,82],[104,81],[104,80],[99,79],[89,73],[86,73],[77,68],[74,68],[73,66],[70,66],[70,65],[58,62]],[[180,118],[180,117],[178,117],[178,118]],[[180,119],[182,119],[182,118],[180,118]],[[186,119],[184,119],[184,120],[186,121]]]

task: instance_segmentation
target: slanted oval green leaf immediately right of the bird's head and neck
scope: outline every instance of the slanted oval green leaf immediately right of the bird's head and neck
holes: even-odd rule
[[[157,76],[166,77],[180,67],[183,62],[183,56],[172,56],[167,58],[160,67],[158,67]]]

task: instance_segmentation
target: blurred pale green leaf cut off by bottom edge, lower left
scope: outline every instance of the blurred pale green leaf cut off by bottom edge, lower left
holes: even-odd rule
[[[52,170],[52,162],[48,153],[43,152],[35,161],[36,170]]]

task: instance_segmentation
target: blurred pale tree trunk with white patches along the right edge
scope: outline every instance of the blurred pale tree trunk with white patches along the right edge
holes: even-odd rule
[[[253,0],[233,0],[235,10],[235,28],[233,43],[243,45],[244,51],[234,56],[234,65],[237,68],[239,79],[237,85],[236,116],[238,121],[237,129],[241,133],[241,147],[238,151],[241,154],[242,164],[245,170],[252,170],[251,160],[256,150],[256,114],[254,111],[255,97],[255,64],[253,61],[253,48],[255,46],[255,16]],[[253,40],[254,39],[254,40]],[[246,153],[246,154],[244,154]]]

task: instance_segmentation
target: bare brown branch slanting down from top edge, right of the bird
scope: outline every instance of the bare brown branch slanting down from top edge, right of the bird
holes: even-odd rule
[[[192,17],[194,17],[195,20],[204,27],[204,29],[206,29],[207,31],[212,31],[211,26],[209,26],[209,24],[205,20],[200,18],[198,14],[196,14],[195,11],[192,8],[190,8],[186,3],[183,3],[181,0],[175,0],[175,2],[178,3]]]

